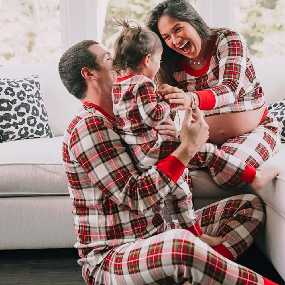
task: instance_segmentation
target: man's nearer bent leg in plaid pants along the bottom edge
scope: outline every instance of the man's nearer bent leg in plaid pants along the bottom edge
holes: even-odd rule
[[[267,285],[267,279],[221,256],[199,238],[174,229],[115,247],[99,266],[86,263],[87,284]],[[274,284],[274,283],[273,283]]]

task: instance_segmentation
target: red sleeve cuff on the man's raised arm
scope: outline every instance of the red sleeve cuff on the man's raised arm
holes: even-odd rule
[[[173,155],[168,155],[166,158],[160,160],[160,162],[156,164],[156,167],[158,167],[174,183],[177,182],[185,169],[185,165]]]

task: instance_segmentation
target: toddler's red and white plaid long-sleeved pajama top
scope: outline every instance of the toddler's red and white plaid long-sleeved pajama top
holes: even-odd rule
[[[157,140],[153,127],[170,113],[170,105],[161,101],[152,80],[143,75],[127,76],[113,84],[113,111],[117,129],[127,144]],[[124,79],[124,80],[123,80]]]

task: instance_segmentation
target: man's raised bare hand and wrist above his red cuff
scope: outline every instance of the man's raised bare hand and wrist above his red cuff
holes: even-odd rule
[[[195,113],[189,107],[186,109],[180,137],[180,150],[176,149],[172,154],[187,165],[209,138],[209,126],[198,107],[195,108]]]

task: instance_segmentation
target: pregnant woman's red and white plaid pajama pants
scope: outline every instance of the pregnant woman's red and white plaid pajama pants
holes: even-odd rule
[[[252,132],[227,140],[220,149],[258,168],[265,160],[279,151],[280,145],[280,126],[277,118],[268,112],[264,120]],[[223,172],[219,172],[215,167],[209,167],[209,172],[222,188],[244,185],[238,177],[224,176]]]

